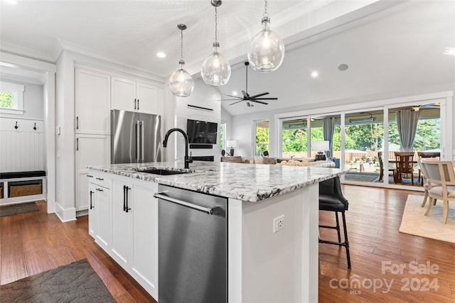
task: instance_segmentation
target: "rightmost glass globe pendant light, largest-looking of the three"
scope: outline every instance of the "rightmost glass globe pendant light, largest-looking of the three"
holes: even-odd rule
[[[257,70],[258,72],[273,72],[282,64],[283,59],[284,43],[270,29],[267,0],[265,0],[264,14],[262,15],[262,31],[257,33],[251,41],[248,61],[250,61],[253,70]]]

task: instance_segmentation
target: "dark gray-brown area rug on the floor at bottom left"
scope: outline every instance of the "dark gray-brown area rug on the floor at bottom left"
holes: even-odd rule
[[[0,302],[115,302],[87,259],[0,286]]]

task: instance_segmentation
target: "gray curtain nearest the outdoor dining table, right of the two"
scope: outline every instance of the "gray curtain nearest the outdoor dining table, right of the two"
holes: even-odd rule
[[[400,135],[400,150],[412,151],[417,123],[419,122],[419,111],[413,111],[412,109],[397,111],[395,117],[397,119],[398,135]]]

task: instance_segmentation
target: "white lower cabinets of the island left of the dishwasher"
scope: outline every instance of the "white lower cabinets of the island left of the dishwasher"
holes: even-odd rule
[[[89,175],[93,175],[92,171]],[[105,188],[89,183],[88,197],[93,206],[89,205],[89,232],[129,275],[158,299],[158,200],[153,196],[158,184],[117,175],[103,177],[106,175],[112,178],[110,198]],[[102,199],[99,201],[103,193],[107,193],[108,209]],[[108,218],[100,219],[100,211]],[[112,240],[105,238],[106,232],[112,235]]]

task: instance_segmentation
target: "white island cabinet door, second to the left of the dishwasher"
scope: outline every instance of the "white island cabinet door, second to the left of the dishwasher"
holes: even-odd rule
[[[132,184],[112,181],[112,258],[127,269],[131,267],[133,252]]]

